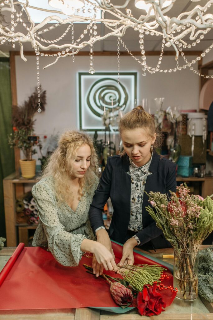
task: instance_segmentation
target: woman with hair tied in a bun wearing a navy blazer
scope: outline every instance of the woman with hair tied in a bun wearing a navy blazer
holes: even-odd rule
[[[133,248],[158,249],[170,246],[145,207],[150,205],[146,193],[176,191],[176,164],[157,154],[161,133],[155,128],[153,117],[137,106],[120,121],[123,141],[121,155],[109,157],[93,196],[89,211],[90,223],[97,241],[111,250],[112,240],[123,245],[120,266],[133,264]],[[109,236],[104,228],[102,210],[111,198],[114,213]],[[95,260],[93,271],[102,273]]]

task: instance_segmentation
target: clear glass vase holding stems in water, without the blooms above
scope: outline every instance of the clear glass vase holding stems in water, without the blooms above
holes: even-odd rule
[[[198,291],[198,254],[181,252],[174,249],[174,287],[178,288],[177,298],[197,299]]]

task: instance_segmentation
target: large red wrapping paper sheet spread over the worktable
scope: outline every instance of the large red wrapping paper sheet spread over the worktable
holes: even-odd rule
[[[118,262],[122,247],[112,246]],[[134,255],[136,264],[156,264]],[[46,249],[24,248],[0,287],[0,310],[118,307],[106,280],[87,273],[83,263],[92,265],[92,259],[82,257],[78,267],[63,267]],[[169,279],[164,284],[173,285],[171,272],[165,273]],[[168,290],[161,293],[169,306],[176,294]]]

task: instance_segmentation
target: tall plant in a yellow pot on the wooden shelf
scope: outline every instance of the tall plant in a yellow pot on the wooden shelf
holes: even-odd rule
[[[45,110],[46,91],[40,91],[40,108]],[[12,125],[13,133],[8,137],[9,144],[23,151],[24,159],[20,159],[21,175],[26,179],[35,176],[36,160],[32,156],[37,152],[34,148],[38,144],[38,137],[34,135],[33,120],[35,112],[38,109],[37,90],[24,101],[22,106],[13,106],[12,108]]]

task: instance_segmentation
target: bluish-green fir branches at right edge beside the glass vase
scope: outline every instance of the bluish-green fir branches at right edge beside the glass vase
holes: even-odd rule
[[[198,294],[213,302],[213,247],[200,251],[198,266]]]

